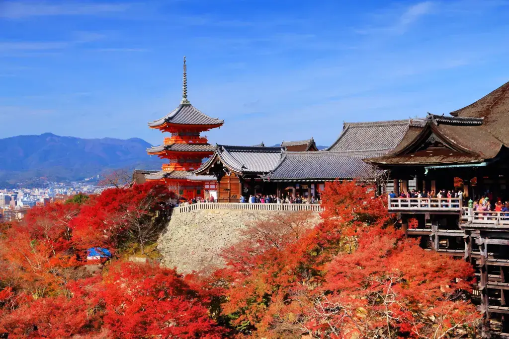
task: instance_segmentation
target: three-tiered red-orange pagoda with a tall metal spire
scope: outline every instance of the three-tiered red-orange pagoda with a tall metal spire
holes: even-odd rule
[[[169,132],[171,137],[164,138],[162,145],[148,148],[149,155],[156,155],[169,162],[162,165],[162,171],[149,174],[149,181],[161,181],[187,199],[203,197],[203,182],[190,181],[192,171],[200,168],[202,160],[214,153],[214,147],[208,143],[201,132],[220,127],[224,120],[212,118],[194,108],[187,100],[186,58],[184,56],[184,77],[182,101],[179,107],[166,116],[149,122],[149,127],[161,132]]]

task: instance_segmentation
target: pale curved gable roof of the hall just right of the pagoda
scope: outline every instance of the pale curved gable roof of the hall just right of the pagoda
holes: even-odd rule
[[[268,173],[281,159],[281,147],[216,145],[216,150],[202,167],[194,173],[203,174],[214,161],[237,173]]]

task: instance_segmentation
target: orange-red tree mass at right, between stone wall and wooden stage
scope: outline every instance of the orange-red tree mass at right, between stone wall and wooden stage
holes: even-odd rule
[[[334,182],[322,222],[298,233],[286,227],[293,241],[250,248],[249,237],[260,240],[247,233],[210,281],[224,288],[229,324],[274,338],[466,337],[480,317],[465,301],[471,266],[406,239],[384,202],[355,182]]]

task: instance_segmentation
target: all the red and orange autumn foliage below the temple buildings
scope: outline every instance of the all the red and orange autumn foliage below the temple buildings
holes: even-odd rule
[[[143,252],[168,216],[157,184],[33,208],[0,229],[0,335],[9,338],[447,338],[479,320],[469,264],[394,228],[385,199],[332,182],[320,219],[278,214],[243,231],[227,266],[182,276]],[[86,250],[114,258],[90,266]]]

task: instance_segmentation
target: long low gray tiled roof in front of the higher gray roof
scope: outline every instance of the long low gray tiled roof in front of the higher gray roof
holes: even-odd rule
[[[285,152],[278,166],[265,177],[274,181],[303,179],[353,179],[373,175],[363,158],[381,156],[384,151]]]

